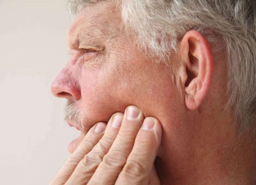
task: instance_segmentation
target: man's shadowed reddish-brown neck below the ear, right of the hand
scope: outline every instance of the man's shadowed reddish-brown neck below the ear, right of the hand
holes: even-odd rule
[[[255,136],[238,138],[225,110],[204,110],[162,120],[167,126],[155,161],[161,184],[255,183]]]

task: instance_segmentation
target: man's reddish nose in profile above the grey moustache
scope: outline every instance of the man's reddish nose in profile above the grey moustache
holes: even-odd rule
[[[51,85],[51,93],[60,98],[68,100],[79,100],[81,89],[78,79],[68,69],[63,69]]]

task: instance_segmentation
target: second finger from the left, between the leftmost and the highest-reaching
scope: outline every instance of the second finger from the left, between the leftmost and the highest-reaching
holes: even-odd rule
[[[84,156],[66,184],[87,184],[99,166],[102,158],[108,153],[123,120],[123,113],[115,113],[110,118],[103,137],[93,149]]]

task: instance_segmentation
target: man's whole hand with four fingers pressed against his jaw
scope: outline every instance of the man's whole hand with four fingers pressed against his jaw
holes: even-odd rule
[[[121,127],[120,127],[121,126]],[[50,184],[160,184],[161,124],[135,106],[95,124]]]

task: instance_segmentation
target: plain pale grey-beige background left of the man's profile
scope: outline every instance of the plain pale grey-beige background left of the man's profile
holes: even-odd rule
[[[50,92],[70,23],[65,0],[0,0],[0,184],[48,184],[79,135]]]

